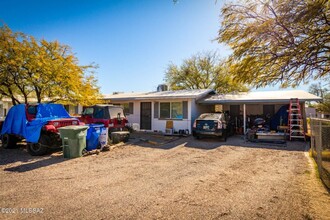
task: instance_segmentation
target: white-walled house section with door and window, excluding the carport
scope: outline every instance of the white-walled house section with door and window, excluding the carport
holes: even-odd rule
[[[212,89],[117,93],[104,95],[104,100],[122,105],[128,121],[138,124],[140,130],[164,132],[166,122],[171,120],[174,130],[191,132],[195,118],[214,111],[212,105],[199,105],[198,101],[214,94]]]

